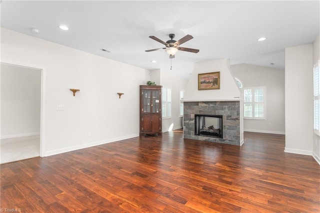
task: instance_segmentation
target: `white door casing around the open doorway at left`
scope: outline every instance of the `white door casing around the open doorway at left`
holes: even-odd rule
[[[39,69],[41,71],[41,106],[40,106],[40,157],[44,153],[45,144],[45,75],[46,68],[44,66],[38,66],[34,64],[21,63],[11,60],[0,60],[0,63],[9,64],[13,66],[27,67],[31,69]]]

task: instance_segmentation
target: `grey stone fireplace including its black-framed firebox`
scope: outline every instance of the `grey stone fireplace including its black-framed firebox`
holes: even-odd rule
[[[240,145],[240,101],[184,101],[183,137]]]

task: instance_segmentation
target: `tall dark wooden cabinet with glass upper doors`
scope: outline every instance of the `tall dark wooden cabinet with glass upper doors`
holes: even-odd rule
[[[162,135],[161,88],[140,85],[140,136]]]

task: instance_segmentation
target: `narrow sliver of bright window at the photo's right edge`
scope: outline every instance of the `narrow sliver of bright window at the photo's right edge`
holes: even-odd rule
[[[319,116],[320,116],[320,91],[319,91],[319,64],[320,60],[313,66],[313,128],[315,133],[320,135]]]

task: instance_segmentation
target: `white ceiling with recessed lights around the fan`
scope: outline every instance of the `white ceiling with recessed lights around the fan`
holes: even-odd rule
[[[319,34],[319,0],[312,1],[13,1],[2,0],[1,26],[92,54],[183,77],[193,63],[230,58],[284,68],[284,48],[312,43]],[[66,24],[68,31],[58,28]],[[31,28],[39,30],[37,34]],[[170,59],[149,35],[194,38]],[[257,41],[265,36],[265,41]],[[103,52],[104,48],[110,52]],[[151,63],[156,60],[156,63]],[[271,65],[270,63],[274,63]]]

